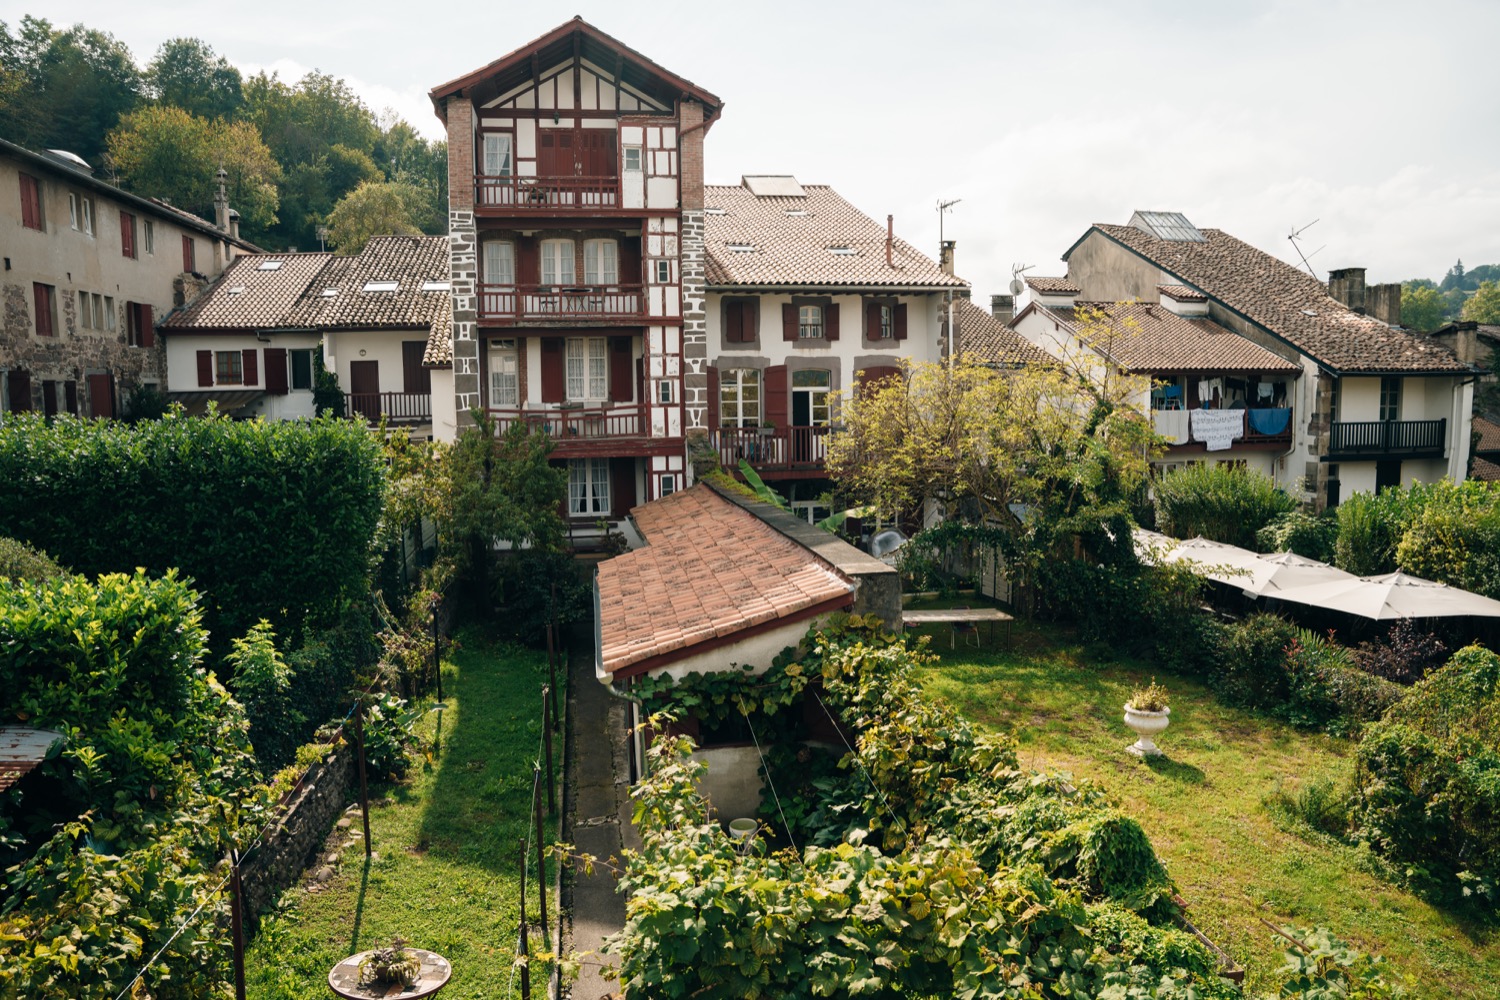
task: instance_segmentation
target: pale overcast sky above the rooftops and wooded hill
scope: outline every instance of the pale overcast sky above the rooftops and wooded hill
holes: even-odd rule
[[[832,184],[933,256],[936,202],[962,198],[945,228],[976,297],[1012,264],[1064,273],[1090,222],[1136,208],[1293,262],[1317,220],[1318,277],[1500,262],[1492,0],[0,0],[22,13],[112,31],[141,64],[186,34],[246,73],[316,67],[432,136],[429,88],[580,13],[724,100],[711,183]]]

